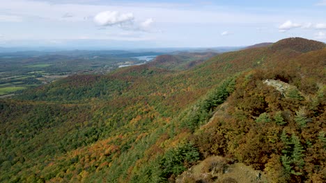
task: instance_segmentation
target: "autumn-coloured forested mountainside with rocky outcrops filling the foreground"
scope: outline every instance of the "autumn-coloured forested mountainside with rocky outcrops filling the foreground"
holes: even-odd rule
[[[194,58],[0,98],[0,182],[326,180],[326,44],[291,37]]]

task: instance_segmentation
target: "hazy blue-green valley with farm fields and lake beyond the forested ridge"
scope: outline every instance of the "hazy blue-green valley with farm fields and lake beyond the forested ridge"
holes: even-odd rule
[[[26,88],[45,85],[76,74],[106,74],[123,64],[148,62],[147,55],[124,51],[0,53],[0,96],[13,96]]]

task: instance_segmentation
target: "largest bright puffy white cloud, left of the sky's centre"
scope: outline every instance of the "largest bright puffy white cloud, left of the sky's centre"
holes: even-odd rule
[[[94,17],[94,21],[100,26],[123,25],[132,23],[134,21],[134,15],[131,12],[120,13],[117,11],[105,11],[98,13],[98,15]]]

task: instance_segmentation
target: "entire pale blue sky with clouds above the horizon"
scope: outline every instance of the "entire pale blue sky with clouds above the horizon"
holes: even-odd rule
[[[0,0],[1,47],[146,49],[326,42],[326,0]]]

